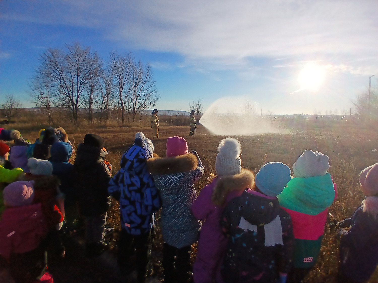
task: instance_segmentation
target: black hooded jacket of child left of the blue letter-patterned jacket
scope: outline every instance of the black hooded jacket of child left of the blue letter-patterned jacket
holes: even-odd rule
[[[108,183],[112,175],[104,163],[105,155],[102,149],[84,143],[77,147],[73,165],[74,188],[84,216],[103,214],[110,207]]]

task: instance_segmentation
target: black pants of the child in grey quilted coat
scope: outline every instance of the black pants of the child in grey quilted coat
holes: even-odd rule
[[[164,283],[187,282],[190,271],[190,252],[191,246],[181,249],[164,243],[163,249],[163,268]],[[176,258],[175,258],[176,257]]]

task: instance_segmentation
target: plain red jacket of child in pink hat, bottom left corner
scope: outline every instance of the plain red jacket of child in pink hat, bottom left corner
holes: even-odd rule
[[[48,227],[41,204],[7,208],[0,221],[0,254],[22,254],[36,249],[46,237]]]

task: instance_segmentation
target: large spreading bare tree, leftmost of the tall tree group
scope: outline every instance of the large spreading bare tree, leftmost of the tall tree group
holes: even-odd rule
[[[59,92],[77,122],[81,95],[99,64],[98,55],[78,43],[66,45],[65,50],[49,48],[40,58],[35,78]]]

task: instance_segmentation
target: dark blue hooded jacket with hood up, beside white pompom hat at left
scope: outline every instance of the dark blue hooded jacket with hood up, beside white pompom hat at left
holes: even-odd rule
[[[53,165],[53,175],[60,180],[60,191],[65,194],[65,206],[75,203],[75,190],[73,185],[73,165],[68,162],[71,158],[72,147],[69,143],[59,141],[51,146],[49,161]]]

